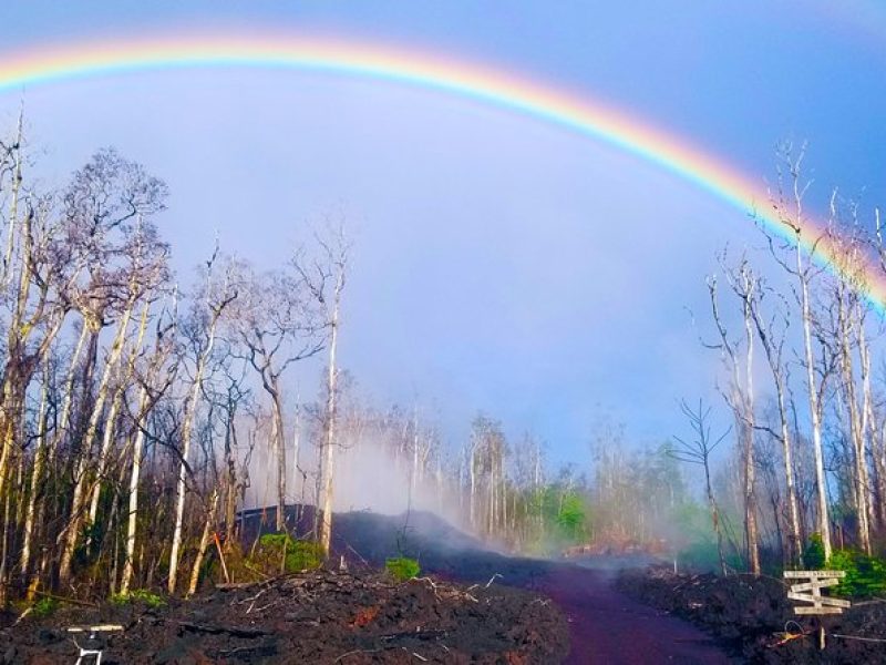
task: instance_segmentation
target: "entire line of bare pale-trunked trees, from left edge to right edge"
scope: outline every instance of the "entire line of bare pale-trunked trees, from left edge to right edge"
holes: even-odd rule
[[[451,442],[415,409],[359,399],[338,360],[342,222],[270,268],[216,244],[182,288],[157,227],[166,184],[105,149],[47,187],[20,121],[0,142],[0,602],[194,593],[256,504],[276,505],[271,528],[288,532],[287,507],[313,505],[311,529],[293,535],[328,553],[336,468],[360,449],[406,479],[410,507],[514,551],[676,548],[698,531],[715,534],[724,571],[730,552],[753,572],[761,551],[800,564],[813,534],[826,556],[835,541],[872,553],[886,531],[882,324],[868,297],[886,270],[879,218],[866,225],[835,196],[824,232],[806,237],[802,158],[785,164],[772,205],[787,239],[767,232],[765,252],[724,253],[708,280],[704,341],[724,364],[732,428],[712,434],[710,411],[684,403],[693,437],[642,449],[608,426],[591,468],[552,472],[538,437],[509,440],[486,415]],[[320,366],[319,393],[302,400],[298,372]],[[702,503],[681,461],[703,469]]]

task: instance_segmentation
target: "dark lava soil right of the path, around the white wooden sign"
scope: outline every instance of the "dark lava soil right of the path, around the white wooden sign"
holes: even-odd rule
[[[674,575],[663,569],[620,575],[618,587],[705,630],[745,663],[886,663],[886,601],[859,601],[844,614],[794,614],[786,584],[750,575]],[[821,622],[821,623],[820,623]],[[826,647],[818,648],[818,626]]]

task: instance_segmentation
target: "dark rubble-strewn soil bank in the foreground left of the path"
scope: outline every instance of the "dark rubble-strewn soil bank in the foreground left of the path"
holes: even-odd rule
[[[219,589],[151,610],[66,608],[0,633],[4,663],[71,663],[71,625],[120,624],[104,664],[559,663],[563,614],[538,594],[492,584],[317,571]],[[74,635],[86,646],[87,635]]]

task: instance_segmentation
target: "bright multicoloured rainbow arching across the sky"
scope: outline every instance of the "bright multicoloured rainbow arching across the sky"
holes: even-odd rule
[[[421,50],[393,49],[356,40],[297,34],[189,33],[125,40],[86,40],[0,53],[0,93],[53,81],[76,80],[140,70],[254,66],[300,70],[375,79],[436,90],[553,123],[651,162],[693,183],[732,206],[753,213],[771,232],[795,241],[770,205],[767,191],[725,162],[686,140],[653,129],[620,109],[585,94],[558,89],[487,65],[435,57]],[[824,225],[801,221],[800,242],[833,272],[833,246],[818,242]],[[886,313],[886,277],[865,266],[868,299]]]

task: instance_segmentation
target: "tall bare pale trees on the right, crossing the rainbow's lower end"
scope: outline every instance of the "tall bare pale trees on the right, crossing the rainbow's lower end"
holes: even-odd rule
[[[702,342],[723,362],[731,430],[712,433],[710,407],[683,405],[693,437],[671,447],[705,471],[723,572],[723,509],[741,515],[733,552],[753,573],[802,566],[810,546],[825,562],[836,549],[870,556],[886,534],[879,212],[834,191],[816,219],[804,152],[780,151],[762,248],[722,252],[707,280],[713,335]],[[717,495],[709,462],[724,439],[729,482]]]

